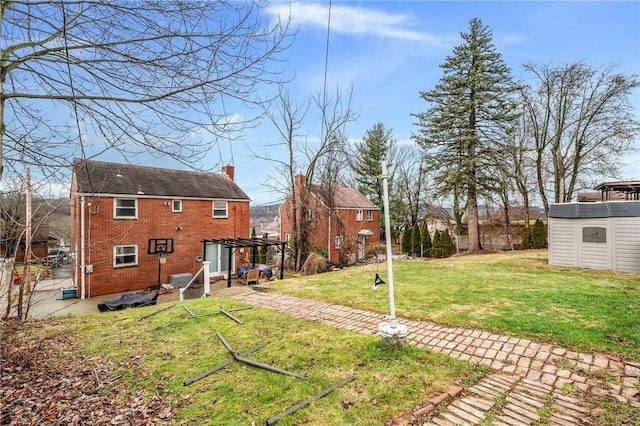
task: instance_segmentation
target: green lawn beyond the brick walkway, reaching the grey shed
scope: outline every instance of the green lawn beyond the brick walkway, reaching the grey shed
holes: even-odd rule
[[[640,360],[640,274],[549,266],[546,250],[393,262],[396,314]],[[274,291],[387,313],[386,262],[278,281]]]

